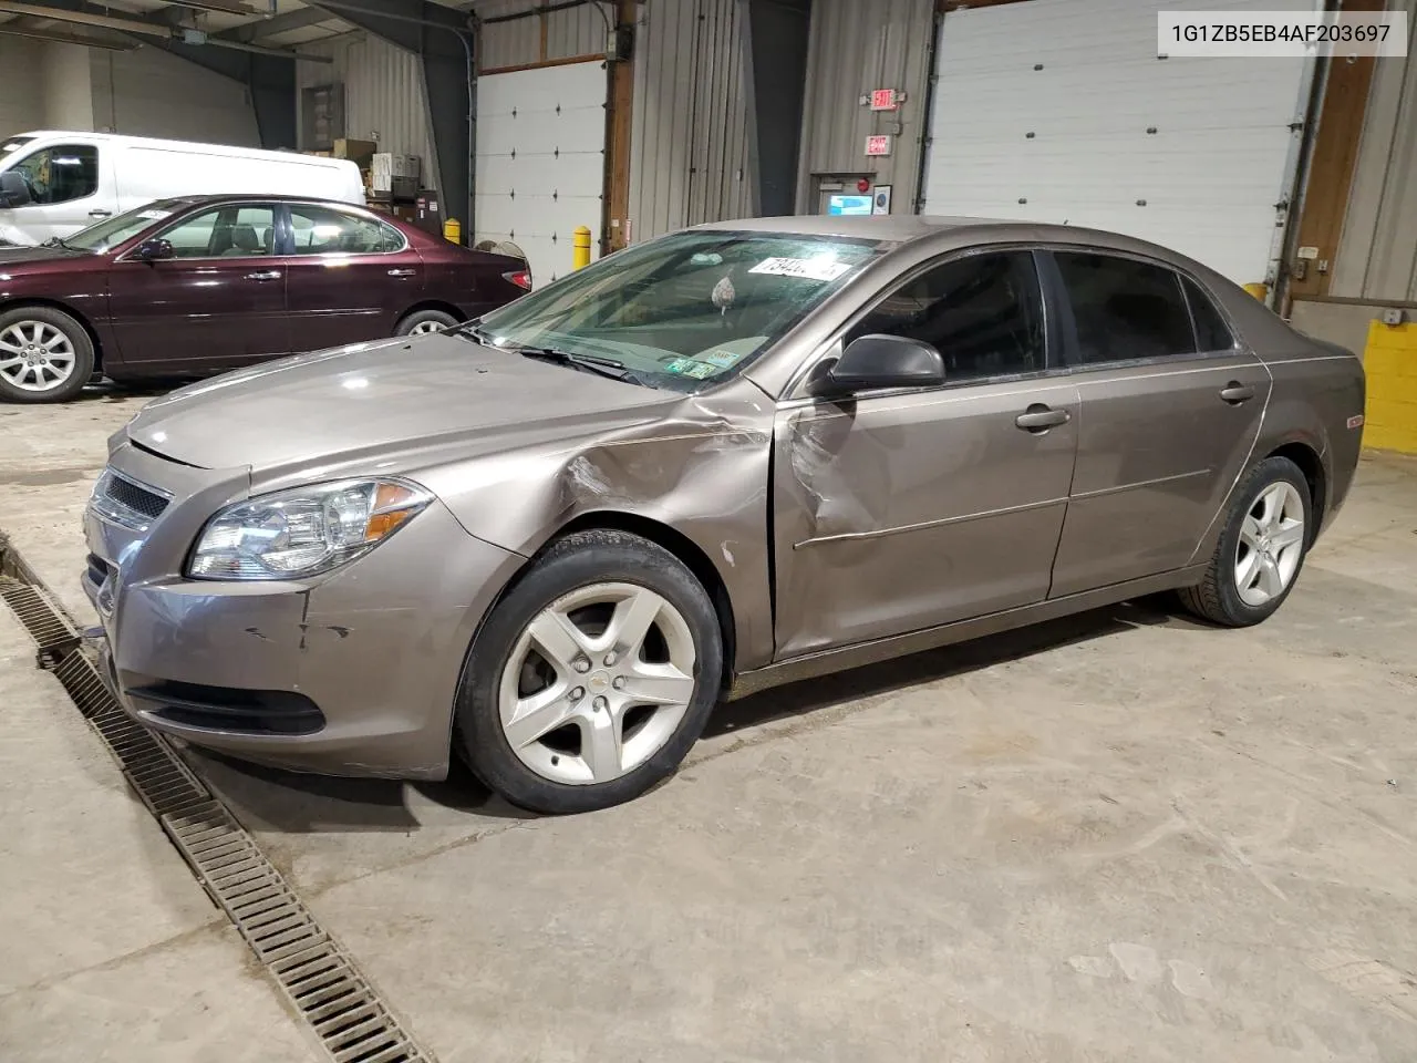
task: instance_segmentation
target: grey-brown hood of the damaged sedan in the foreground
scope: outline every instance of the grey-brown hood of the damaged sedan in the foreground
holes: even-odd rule
[[[526,359],[461,336],[357,343],[190,384],[150,403],[128,438],[198,468],[380,468],[578,438],[655,417],[682,394]],[[400,456],[404,461],[400,461]],[[412,458],[412,461],[410,461]]]

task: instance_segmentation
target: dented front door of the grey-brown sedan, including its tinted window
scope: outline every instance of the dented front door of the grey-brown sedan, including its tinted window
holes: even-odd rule
[[[774,434],[777,651],[918,631],[1043,601],[1078,394],[1049,359],[1034,257],[955,257],[847,329],[931,343],[944,387],[792,401]]]

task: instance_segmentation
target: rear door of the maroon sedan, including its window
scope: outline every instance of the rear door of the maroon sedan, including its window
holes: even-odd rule
[[[292,203],[283,251],[296,350],[393,336],[422,291],[418,252],[371,214]]]

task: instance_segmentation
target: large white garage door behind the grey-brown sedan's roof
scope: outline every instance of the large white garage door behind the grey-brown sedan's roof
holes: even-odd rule
[[[1305,61],[1158,58],[1156,13],[1193,7],[1024,0],[947,14],[924,213],[1112,230],[1237,283],[1270,279]]]

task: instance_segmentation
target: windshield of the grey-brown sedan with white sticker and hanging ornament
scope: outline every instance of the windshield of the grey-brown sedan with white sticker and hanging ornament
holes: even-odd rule
[[[694,391],[740,373],[877,254],[876,241],[679,232],[524,295],[476,332],[499,346],[612,360],[632,380]]]

